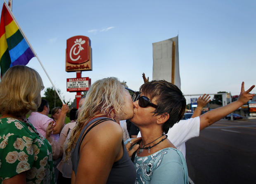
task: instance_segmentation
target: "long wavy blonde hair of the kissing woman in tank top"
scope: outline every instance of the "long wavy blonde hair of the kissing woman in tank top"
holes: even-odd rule
[[[93,83],[86,94],[85,101],[78,114],[76,127],[73,129],[69,139],[66,158],[68,158],[73,145],[81,134],[84,125],[88,123],[88,120],[97,116],[97,114],[110,117],[111,112],[114,112],[117,116],[124,112],[125,101],[122,95],[123,92],[125,92],[124,86],[114,77],[104,78]]]

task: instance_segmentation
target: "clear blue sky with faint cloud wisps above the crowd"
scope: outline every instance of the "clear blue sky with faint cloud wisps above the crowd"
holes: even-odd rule
[[[83,71],[82,77],[90,77],[92,83],[113,76],[138,90],[142,73],[152,80],[152,43],[178,35],[183,94],[237,95],[242,81],[246,89],[256,84],[255,0],[12,3],[14,16],[65,100],[73,101],[76,95],[66,92],[66,78],[76,78],[76,72],[65,71],[66,40],[75,35],[91,40],[92,71]],[[27,66],[51,87],[36,58]]]

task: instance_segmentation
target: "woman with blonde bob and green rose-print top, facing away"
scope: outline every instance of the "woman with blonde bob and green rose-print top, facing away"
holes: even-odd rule
[[[40,75],[27,66],[9,68],[0,82],[0,183],[55,182],[52,148],[26,119],[43,90]]]

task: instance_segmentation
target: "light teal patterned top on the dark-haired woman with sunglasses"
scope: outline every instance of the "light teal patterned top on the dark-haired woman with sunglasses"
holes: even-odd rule
[[[183,154],[165,148],[149,156],[135,156],[136,184],[188,184],[187,164]]]

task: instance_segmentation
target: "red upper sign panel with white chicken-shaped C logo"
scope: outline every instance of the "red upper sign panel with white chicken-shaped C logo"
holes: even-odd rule
[[[90,59],[90,40],[86,36],[73,36],[66,40],[66,61],[70,64],[82,64]]]

